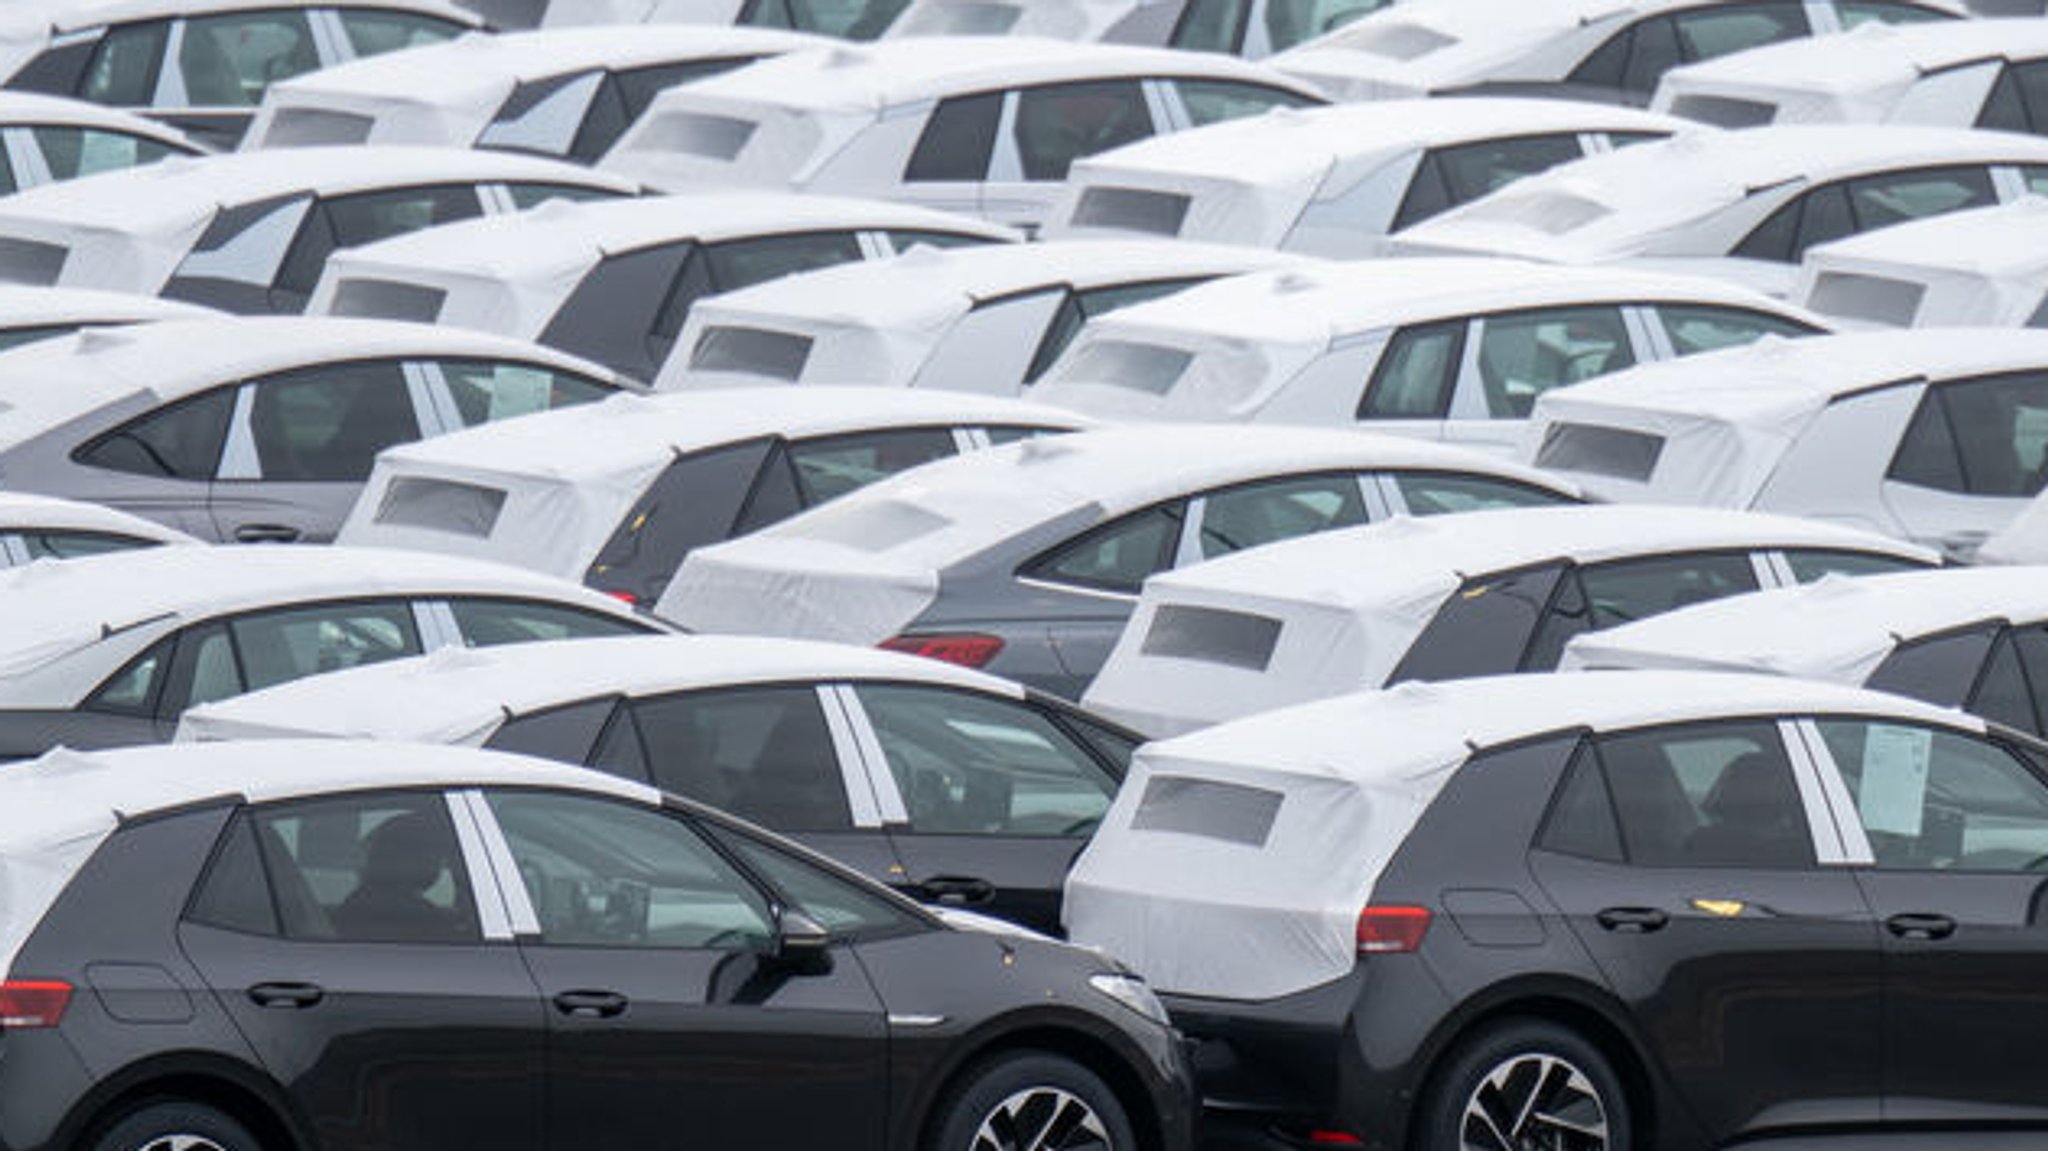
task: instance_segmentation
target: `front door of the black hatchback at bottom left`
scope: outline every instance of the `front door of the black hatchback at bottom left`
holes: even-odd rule
[[[676,811],[510,788],[477,807],[547,1004],[549,1147],[883,1151],[887,1014],[846,948],[778,963],[776,901]]]

